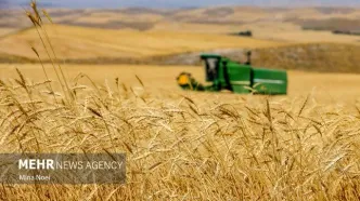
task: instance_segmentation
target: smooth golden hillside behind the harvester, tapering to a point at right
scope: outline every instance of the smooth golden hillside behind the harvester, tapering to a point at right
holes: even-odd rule
[[[137,58],[229,48],[266,48],[283,43],[223,35],[176,31],[104,30],[74,26],[46,26],[57,56],[63,59]],[[46,56],[37,31],[26,29],[0,39],[0,53],[36,58],[34,46]],[[49,46],[49,45],[48,45]]]

